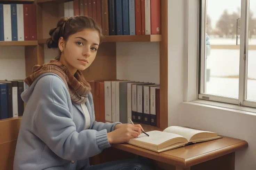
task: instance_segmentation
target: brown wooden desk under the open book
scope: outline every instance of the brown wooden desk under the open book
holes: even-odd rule
[[[145,132],[161,131],[161,129],[149,125],[142,124],[142,127]],[[222,137],[221,139],[191,144],[162,153],[130,144],[113,144],[106,152],[115,153],[113,159],[131,158],[131,154],[141,155],[155,160],[159,168],[165,170],[234,170],[235,151],[248,146],[248,143],[231,137]],[[107,154],[107,156],[110,155]]]

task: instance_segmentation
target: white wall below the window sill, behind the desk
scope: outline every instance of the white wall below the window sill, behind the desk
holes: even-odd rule
[[[184,102],[180,108],[181,126],[204,129],[247,141],[249,147],[235,154],[235,170],[256,169],[256,114],[194,102]]]

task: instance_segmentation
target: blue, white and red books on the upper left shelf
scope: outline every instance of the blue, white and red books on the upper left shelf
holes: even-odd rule
[[[0,3],[0,41],[37,41],[36,6]]]

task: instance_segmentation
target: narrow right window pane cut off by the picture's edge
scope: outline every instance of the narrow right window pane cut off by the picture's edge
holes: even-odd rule
[[[247,57],[247,100],[256,101],[256,1],[250,0]]]

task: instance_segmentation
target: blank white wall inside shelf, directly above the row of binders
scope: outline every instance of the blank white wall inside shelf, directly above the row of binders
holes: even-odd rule
[[[117,79],[159,84],[159,42],[117,43]]]

